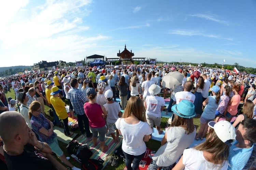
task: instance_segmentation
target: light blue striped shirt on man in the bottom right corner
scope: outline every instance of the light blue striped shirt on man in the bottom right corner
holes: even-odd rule
[[[251,148],[237,148],[237,146],[235,146],[237,143],[238,141],[235,140],[229,148],[228,170],[243,169],[253,152],[254,145]]]

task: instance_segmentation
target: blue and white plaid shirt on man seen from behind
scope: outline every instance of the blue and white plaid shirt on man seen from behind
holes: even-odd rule
[[[87,99],[84,92],[78,90],[77,88],[72,88],[69,90],[68,95],[74,107],[75,113],[79,115],[85,114],[84,104],[87,101]]]

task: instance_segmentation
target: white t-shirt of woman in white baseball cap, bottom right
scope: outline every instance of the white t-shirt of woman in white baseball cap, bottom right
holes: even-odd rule
[[[204,156],[203,151],[195,150],[195,149],[185,149],[183,152],[183,165],[185,165],[185,170],[214,170],[219,169],[218,167],[214,167],[216,164],[208,162]],[[228,169],[228,161],[224,161],[223,166],[219,170]]]

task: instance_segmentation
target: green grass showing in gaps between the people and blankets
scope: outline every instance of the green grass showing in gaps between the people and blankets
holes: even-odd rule
[[[15,99],[15,94],[14,94],[14,91],[11,90],[11,92],[8,92],[8,91],[5,91],[5,95],[6,95],[6,98],[8,97],[12,97],[13,99]],[[67,99],[65,99],[64,101],[66,104],[68,104],[68,101]],[[48,106],[45,105],[45,113],[47,114],[48,110],[50,108]],[[194,118],[194,124],[196,125],[196,128],[197,128],[197,132],[199,130],[199,126],[200,126],[200,121],[199,121],[199,118],[200,117],[196,117]],[[53,120],[53,118],[49,118],[49,120]],[[167,122],[168,118],[162,118],[161,120],[161,129],[165,129],[165,126],[166,126],[166,122]],[[77,133],[79,135],[81,135],[81,132],[80,130],[76,130],[74,133]],[[77,135],[77,137],[79,137],[79,135]],[[76,137],[76,138],[77,138]],[[67,152],[66,152],[66,146],[67,144],[66,143],[63,143],[61,141],[58,141],[59,142],[59,146],[61,148],[61,150],[65,153],[66,157],[69,156],[71,157]],[[157,151],[159,148],[160,148],[160,142],[159,141],[156,141],[156,140],[153,140],[153,139],[150,139],[150,141],[148,142],[145,142],[146,143],[146,146],[147,148],[151,149],[152,151]],[[61,163],[61,160],[55,155],[55,157],[57,158],[57,160]],[[81,164],[79,164],[77,161],[73,160],[72,158],[69,160],[71,162],[71,164],[73,164],[74,166],[78,167],[78,168],[81,168]],[[63,163],[62,163],[63,164]],[[63,164],[64,165],[64,164]],[[65,165],[64,165],[65,166]],[[66,166],[67,167],[67,166]],[[123,160],[119,160],[118,161],[118,165],[116,167],[112,167],[111,165],[107,165],[105,169],[108,169],[108,170],[123,170],[125,168],[125,164],[124,164],[124,161]]]

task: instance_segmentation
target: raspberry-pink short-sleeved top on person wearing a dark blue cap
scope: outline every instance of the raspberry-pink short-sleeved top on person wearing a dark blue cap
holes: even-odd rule
[[[84,112],[89,119],[89,126],[92,128],[100,128],[106,125],[104,119],[102,118],[101,106],[97,103],[90,104],[86,102],[84,104]]]

